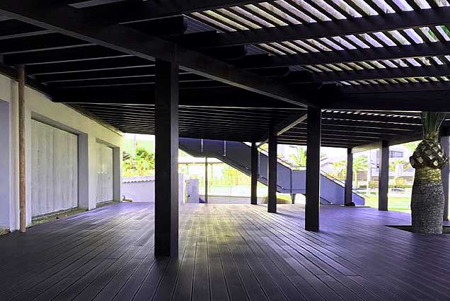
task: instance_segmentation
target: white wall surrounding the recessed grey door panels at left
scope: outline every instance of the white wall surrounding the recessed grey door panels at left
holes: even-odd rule
[[[11,78],[0,75],[0,100],[9,103],[9,173],[11,189],[9,189],[9,228],[11,230],[18,229],[18,92],[17,83]],[[40,122],[56,126],[59,129],[70,131],[73,134],[83,137],[84,142],[80,143],[85,146],[86,151],[79,152],[83,155],[86,164],[83,168],[79,168],[80,172],[80,191],[85,192],[85,196],[80,194],[80,206],[92,209],[96,208],[96,185],[97,185],[97,171],[96,171],[96,156],[97,148],[96,142],[98,140],[105,141],[108,146],[115,148],[115,153],[120,150],[122,144],[122,133],[109,129],[102,124],[90,119],[83,114],[71,109],[67,105],[55,103],[50,101],[46,95],[33,90],[32,88],[25,89],[25,141],[26,141],[26,189],[29,192],[31,187],[31,120],[36,119]],[[1,131],[2,129],[0,129]],[[120,151],[118,152],[121,153]],[[121,156],[120,156],[121,157]],[[80,159],[80,158],[79,158]],[[121,158],[116,158],[117,162],[121,163]],[[81,164],[81,163],[80,163]],[[1,172],[1,171],[0,171]],[[83,174],[84,173],[84,174]],[[3,172],[2,172],[3,174]],[[120,179],[120,177],[119,177]],[[117,181],[117,175],[115,175]],[[117,188],[119,187],[119,188]],[[120,189],[120,181],[115,183],[115,190]],[[87,193],[86,193],[87,191]],[[117,192],[115,193],[116,198]],[[120,195],[120,194],[119,194]],[[27,193],[27,218],[28,223],[31,222],[30,214],[30,194]],[[117,198],[117,201],[119,199]],[[1,200],[0,200],[1,201]]]

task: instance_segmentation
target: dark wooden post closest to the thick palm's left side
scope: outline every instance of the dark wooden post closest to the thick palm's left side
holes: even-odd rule
[[[389,191],[389,146],[388,142],[380,142],[379,174],[378,174],[378,210],[388,211]]]

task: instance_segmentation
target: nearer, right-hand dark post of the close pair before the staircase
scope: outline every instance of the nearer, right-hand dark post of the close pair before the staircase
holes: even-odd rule
[[[268,197],[267,212],[277,213],[277,132],[274,126],[269,131],[269,164],[267,175],[268,179]]]

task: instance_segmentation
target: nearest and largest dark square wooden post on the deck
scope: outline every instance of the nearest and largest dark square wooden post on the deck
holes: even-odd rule
[[[178,256],[178,64],[156,61],[155,255]]]

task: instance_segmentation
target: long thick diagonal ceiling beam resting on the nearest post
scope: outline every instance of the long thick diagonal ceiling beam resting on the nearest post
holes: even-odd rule
[[[219,0],[217,0],[219,1]],[[197,3],[197,1],[195,1]],[[198,1],[200,4],[209,2]],[[222,2],[222,1],[220,1]],[[187,1],[186,3],[191,3]],[[147,35],[125,25],[105,25],[108,18],[91,15],[71,6],[53,8],[37,5],[33,0],[4,0],[0,13],[48,30],[54,30],[111,51],[134,55],[149,61],[156,58],[176,61],[180,69],[211,78],[238,88],[270,96],[296,105],[313,105],[302,98],[296,90],[277,81],[262,78],[255,73],[243,71],[207,55],[180,47],[161,38]],[[123,13],[123,11],[122,11]],[[16,54],[13,54],[16,55]],[[16,61],[18,64],[26,62]]]

